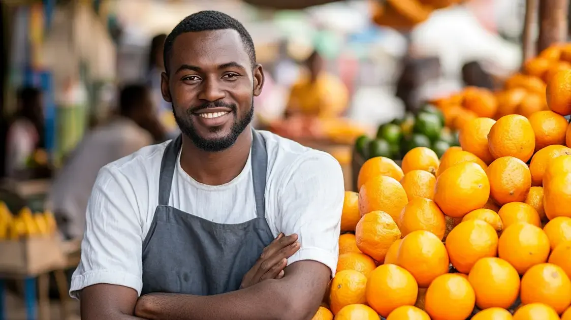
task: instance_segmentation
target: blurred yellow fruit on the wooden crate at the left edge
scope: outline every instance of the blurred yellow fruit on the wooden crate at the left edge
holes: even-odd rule
[[[49,211],[33,214],[24,207],[18,215],[12,215],[6,203],[0,202],[0,241],[50,236],[56,230],[54,215]]]

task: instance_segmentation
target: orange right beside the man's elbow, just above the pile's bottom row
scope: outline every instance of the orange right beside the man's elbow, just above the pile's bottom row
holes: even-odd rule
[[[337,314],[341,308],[355,303],[366,303],[367,277],[356,270],[343,270],[335,274],[329,289],[329,307]]]

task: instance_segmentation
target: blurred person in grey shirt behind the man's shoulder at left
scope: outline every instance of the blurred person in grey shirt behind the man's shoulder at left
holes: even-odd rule
[[[101,167],[164,139],[146,86],[127,85],[117,116],[88,133],[55,178],[49,199],[66,238],[82,237],[91,188]]]

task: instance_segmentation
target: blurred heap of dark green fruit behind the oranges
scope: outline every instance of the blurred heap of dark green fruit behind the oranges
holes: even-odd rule
[[[404,118],[379,126],[375,139],[361,135],[355,142],[355,149],[364,159],[402,159],[415,147],[431,148],[441,156],[449,147],[457,144],[457,134],[445,126],[443,112],[435,106],[426,105],[416,116],[407,113]]]

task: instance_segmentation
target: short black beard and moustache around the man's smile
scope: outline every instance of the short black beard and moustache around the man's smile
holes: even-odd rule
[[[214,103],[205,103],[204,105],[196,108],[190,108],[186,110],[183,116],[176,114],[174,103],[171,103],[172,114],[175,116],[176,125],[178,125],[180,131],[191,139],[192,143],[201,150],[207,152],[219,152],[228,149],[236,143],[239,135],[246,130],[252,119],[254,119],[254,97],[252,97],[252,102],[250,109],[243,115],[242,118],[238,118],[238,107],[234,103],[227,104],[221,101],[215,101]],[[213,107],[227,107],[231,109],[231,113],[234,115],[234,123],[230,127],[230,132],[223,137],[217,138],[204,138],[200,136],[192,124],[192,117],[196,115],[192,114],[193,110],[198,109],[208,109]],[[223,127],[212,127],[210,129],[211,133],[218,133],[223,130]]]

